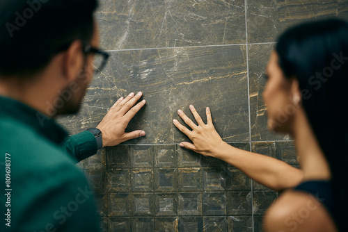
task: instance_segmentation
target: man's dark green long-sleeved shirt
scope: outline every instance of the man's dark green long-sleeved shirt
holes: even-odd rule
[[[93,192],[75,164],[97,152],[89,131],[0,97],[0,231],[100,231]]]

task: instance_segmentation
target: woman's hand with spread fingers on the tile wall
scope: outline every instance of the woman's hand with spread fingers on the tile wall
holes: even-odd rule
[[[198,115],[196,109],[192,105],[190,106],[190,110],[193,117],[196,119],[198,126],[194,124],[192,120],[182,112],[182,110],[177,110],[177,113],[192,129],[192,131],[187,129],[185,126],[182,126],[177,119],[173,119],[173,123],[177,129],[187,135],[187,137],[189,137],[189,139],[193,142],[193,144],[190,142],[181,142],[180,147],[196,151],[203,156],[215,156],[216,150],[219,149],[218,147],[220,147],[220,145],[224,142],[214,128],[212,114],[209,107],[206,108],[207,124],[203,122],[202,118],[200,115]]]

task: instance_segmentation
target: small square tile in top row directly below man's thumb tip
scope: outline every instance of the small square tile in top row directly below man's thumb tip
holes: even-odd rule
[[[143,145],[130,145],[130,167],[152,167],[152,147]]]

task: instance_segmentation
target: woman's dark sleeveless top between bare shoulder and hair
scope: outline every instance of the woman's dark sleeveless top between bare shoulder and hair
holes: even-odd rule
[[[336,226],[338,226],[338,201],[337,198],[335,198],[331,181],[305,181],[292,190],[308,192],[313,195],[320,204],[323,204],[326,207]],[[338,231],[340,231],[340,228],[338,228]]]

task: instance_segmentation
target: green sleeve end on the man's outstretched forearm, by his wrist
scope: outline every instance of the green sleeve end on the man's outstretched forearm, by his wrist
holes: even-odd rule
[[[66,139],[63,151],[79,162],[97,153],[97,140],[90,131],[83,131]]]

